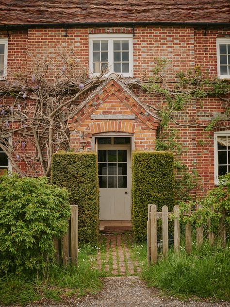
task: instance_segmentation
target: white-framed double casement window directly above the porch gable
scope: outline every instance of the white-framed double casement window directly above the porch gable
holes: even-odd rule
[[[89,34],[89,75],[133,76],[132,34]]]

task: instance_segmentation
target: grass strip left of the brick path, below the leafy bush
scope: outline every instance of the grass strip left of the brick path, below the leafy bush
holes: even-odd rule
[[[0,278],[0,304],[26,305],[41,298],[52,301],[66,300],[96,293],[102,288],[100,272],[94,266],[97,249],[84,246],[79,252],[79,266],[54,266],[46,278],[5,275]],[[43,299],[43,301],[44,301]]]

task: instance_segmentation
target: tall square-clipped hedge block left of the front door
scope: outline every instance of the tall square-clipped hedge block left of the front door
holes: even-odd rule
[[[52,183],[66,187],[70,205],[78,205],[79,241],[97,243],[99,182],[96,153],[59,152],[52,157]]]

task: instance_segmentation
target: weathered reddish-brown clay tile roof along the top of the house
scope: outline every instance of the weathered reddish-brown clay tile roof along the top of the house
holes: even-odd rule
[[[107,22],[230,23],[230,0],[0,1],[0,26]]]

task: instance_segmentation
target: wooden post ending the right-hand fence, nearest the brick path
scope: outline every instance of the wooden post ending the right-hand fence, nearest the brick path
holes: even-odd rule
[[[151,263],[157,262],[157,206],[150,207],[151,225],[150,225],[150,245],[151,245]]]

